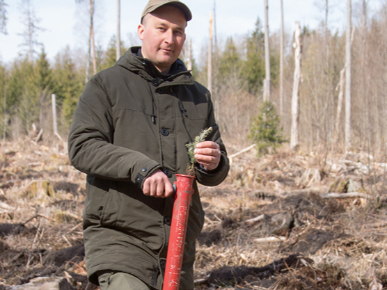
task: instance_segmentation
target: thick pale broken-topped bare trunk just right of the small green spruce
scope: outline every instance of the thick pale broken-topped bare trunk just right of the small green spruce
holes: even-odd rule
[[[297,150],[299,145],[299,84],[301,80],[301,28],[296,22],[294,31],[294,83],[292,93],[292,130],[290,136],[290,148]]]

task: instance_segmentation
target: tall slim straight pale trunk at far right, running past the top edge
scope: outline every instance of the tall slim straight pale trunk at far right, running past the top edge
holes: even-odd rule
[[[347,0],[347,32],[345,44],[345,150],[351,146],[351,30],[352,3]]]

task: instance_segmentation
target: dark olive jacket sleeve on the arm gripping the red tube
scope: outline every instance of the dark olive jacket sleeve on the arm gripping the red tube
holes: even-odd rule
[[[161,166],[141,152],[113,145],[112,104],[101,83],[100,76],[93,77],[75,108],[68,138],[70,162],[88,175],[141,187]]]

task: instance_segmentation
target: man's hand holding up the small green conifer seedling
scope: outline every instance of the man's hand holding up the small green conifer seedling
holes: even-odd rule
[[[214,170],[221,161],[221,147],[218,143],[204,141],[196,145],[194,151],[196,161],[207,170]]]

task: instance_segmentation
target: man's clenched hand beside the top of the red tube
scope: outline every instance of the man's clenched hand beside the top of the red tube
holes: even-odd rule
[[[155,198],[168,198],[173,193],[173,187],[164,172],[157,169],[145,179],[143,193]]]

